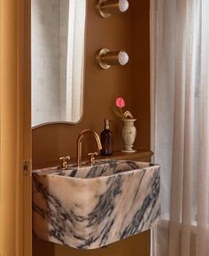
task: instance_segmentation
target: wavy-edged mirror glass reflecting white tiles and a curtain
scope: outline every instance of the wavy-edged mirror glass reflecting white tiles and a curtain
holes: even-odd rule
[[[86,0],[32,0],[32,126],[81,119]]]

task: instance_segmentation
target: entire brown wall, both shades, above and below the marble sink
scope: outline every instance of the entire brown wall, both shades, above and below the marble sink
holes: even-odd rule
[[[150,148],[149,1],[129,0],[128,12],[122,15],[112,15],[108,19],[97,16],[94,8],[95,2],[95,0],[88,0],[83,118],[80,124],[50,124],[34,129],[34,165],[50,162],[58,156],[75,156],[76,140],[81,130],[90,128],[100,133],[103,130],[105,117],[113,120],[114,149],[122,148],[120,120],[112,113],[114,99],[118,96],[124,97],[127,101],[127,108],[138,119],[135,124],[138,132],[135,148]],[[98,68],[95,53],[103,47],[110,50],[126,50],[130,56],[128,65],[116,66],[108,70]],[[87,143],[83,144],[85,144],[85,151],[90,150]],[[125,244],[123,245],[126,250],[123,250],[123,254],[119,253],[120,255],[149,255],[149,232],[136,237],[138,240],[132,238],[127,244],[128,248]],[[135,254],[134,248],[139,243],[144,245],[143,249]],[[117,247],[117,244],[113,246]],[[44,253],[44,250],[48,250],[47,253]],[[95,252],[98,254],[97,250]],[[100,251],[99,254],[103,255],[104,252]],[[116,252],[114,255],[119,254]],[[73,249],[64,246],[35,241],[34,256],[36,255],[75,256],[76,253]],[[94,255],[94,253],[89,253],[89,255]]]

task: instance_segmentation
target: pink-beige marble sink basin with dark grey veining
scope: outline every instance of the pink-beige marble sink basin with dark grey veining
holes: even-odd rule
[[[104,161],[94,166],[33,172],[37,238],[94,249],[159,222],[159,165]]]

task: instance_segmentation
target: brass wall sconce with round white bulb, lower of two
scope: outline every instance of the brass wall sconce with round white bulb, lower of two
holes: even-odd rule
[[[128,63],[128,53],[125,51],[111,52],[104,48],[97,52],[96,60],[103,69],[111,68],[112,65],[124,66]]]

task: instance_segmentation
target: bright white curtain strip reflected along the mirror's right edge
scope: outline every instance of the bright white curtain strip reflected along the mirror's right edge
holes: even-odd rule
[[[66,119],[78,122],[82,113],[82,87],[86,1],[70,0],[67,40]],[[69,97],[69,95],[71,97]],[[78,102],[80,102],[78,104]],[[69,107],[71,106],[71,108]]]

